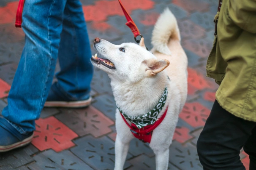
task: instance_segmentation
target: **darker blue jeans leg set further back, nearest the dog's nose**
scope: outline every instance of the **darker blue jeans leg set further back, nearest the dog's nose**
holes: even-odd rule
[[[93,66],[82,3],[67,0],[59,49],[60,72],[52,90],[70,101],[90,97]],[[57,91],[57,92],[56,92]]]

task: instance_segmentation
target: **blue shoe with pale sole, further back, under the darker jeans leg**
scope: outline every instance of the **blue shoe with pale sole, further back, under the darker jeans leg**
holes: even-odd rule
[[[84,100],[69,100],[63,93],[60,92],[61,88],[58,87],[55,82],[49,91],[48,97],[44,104],[45,107],[70,107],[70,108],[80,108],[87,107],[91,104],[92,97],[89,95],[85,96]]]

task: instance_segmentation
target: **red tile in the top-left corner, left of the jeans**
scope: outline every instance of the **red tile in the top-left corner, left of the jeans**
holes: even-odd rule
[[[11,2],[5,7],[0,7],[0,24],[14,23],[18,3],[19,1]]]

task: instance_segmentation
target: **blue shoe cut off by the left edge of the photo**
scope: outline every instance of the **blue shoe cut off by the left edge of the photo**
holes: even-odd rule
[[[29,144],[34,133],[20,134],[9,122],[0,117],[0,152],[10,151]]]

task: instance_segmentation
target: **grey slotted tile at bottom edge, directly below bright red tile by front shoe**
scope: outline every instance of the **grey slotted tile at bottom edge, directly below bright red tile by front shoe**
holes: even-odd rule
[[[33,159],[36,163],[28,166],[30,170],[93,170],[68,150],[56,153],[50,149],[41,152]]]

